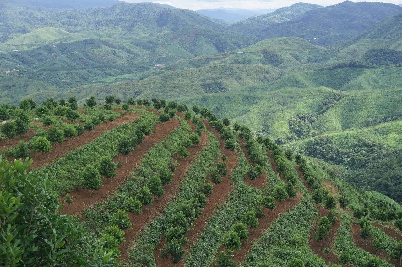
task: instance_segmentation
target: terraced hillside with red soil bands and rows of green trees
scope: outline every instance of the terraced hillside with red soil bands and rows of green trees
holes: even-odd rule
[[[120,103],[113,96],[105,101]],[[391,223],[398,226],[400,205],[377,192],[360,194],[332,171],[336,167],[283,152],[269,138],[254,140],[246,125],[222,122],[205,108],[195,106],[191,112],[186,105],[158,99],[153,99],[154,108],[148,99],[131,99],[130,105],[108,103],[100,107],[89,98],[78,111],[74,99],[60,103],[48,99],[38,107],[27,100],[20,105],[26,111],[2,107],[3,113],[11,114],[2,127],[5,135],[9,125],[21,128],[19,121],[24,118],[28,133],[30,117],[40,117],[31,122],[34,137],[29,143],[3,153],[9,158],[25,153],[34,160],[28,175],[52,182],[47,191],[59,198],[61,212],[76,216],[77,227],[86,227],[80,231],[88,240],[96,237],[102,242],[90,253],[105,251],[104,263],[363,266],[360,263],[375,260],[384,264],[380,266],[387,266],[387,261],[396,264],[401,234]],[[74,127],[65,122],[72,120],[70,113],[78,122]],[[107,113],[111,119],[101,124]],[[43,126],[47,121],[55,126]],[[86,131],[76,138],[72,131],[68,137],[81,125]],[[69,146],[65,141],[51,145],[57,137],[55,143],[62,143],[63,136]],[[30,149],[38,152],[30,154]],[[42,163],[41,157],[47,162]],[[368,213],[365,206],[374,212]],[[361,216],[366,217],[359,221]],[[323,218],[334,220],[334,226],[322,230]],[[363,233],[369,232],[366,242],[383,254],[361,248],[357,222]],[[348,228],[353,229],[351,234]],[[282,242],[273,243],[278,236]],[[324,252],[329,254],[322,253],[318,243],[325,243]],[[70,246],[60,244],[55,251]],[[276,253],[283,249],[288,253]]]

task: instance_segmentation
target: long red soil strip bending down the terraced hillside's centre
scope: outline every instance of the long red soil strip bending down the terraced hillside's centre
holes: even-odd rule
[[[230,192],[230,172],[233,168],[238,166],[238,154],[236,151],[230,151],[225,148],[225,141],[219,138],[219,132],[213,129],[207,120],[203,120],[205,126],[208,131],[210,131],[219,141],[219,145],[222,151],[222,154],[226,155],[228,158],[225,160],[228,167],[228,175],[222,179],[222,183],[214,184],[214,188],[212,194],[210,194],[208,198],[207,205],[203,209],[203,214],[199,216],[194,223],[194,226],[190,229],[190,232],[187,234],[187,239],[189,242],[184,246],[185,253],[188,253],[190,246],[193,245],[195,241],[198,239],[198,235],[203,232],[204,227],[211,217],[213,210],[218,205],[223,204],[223,202],[228,198]],[[156,257],[156,266],[174,266],[171,259],[164,259],[159,257],[159,249],[164,247],[164,242],[161,242],[155,251]],[[182,267],[184,266],[185,260],[178,262],[175,266]]]

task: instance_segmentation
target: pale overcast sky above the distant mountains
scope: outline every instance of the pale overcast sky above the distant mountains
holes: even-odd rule
[[[191,10],[209,9],[209,8],[244,8],[244,9],[266,9],[280,8],[290,6],[297,2],[307,2],[310,4],[320,4],[322,6],[330,6],[342,2],[343,0],[125,0],[130,3],[138,2],[155,2],[159,4],[168,4],[176,8],[185,8]],[[381,0],[365,0],[367,2],[381,2]],[[357,2],[357,1],[353,1]],[[385,1],[384,1],[385,2]],[[387,0],[392,4],[402,4],[402,0]]]

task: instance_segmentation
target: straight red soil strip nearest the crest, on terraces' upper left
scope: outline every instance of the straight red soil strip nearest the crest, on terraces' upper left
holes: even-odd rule
[[[101,136],[105,131],[110,131],[111,129],[124,124],[135,121],[140,117],[138,113],[130,113],[124,117],[119,117],[114,121],[108,121],[100,126],[96,126],[91,131],[85,131],[81,136],[76,136],[75,138],[68,138],[64,140],[62,144],[53,144],[52,151],[48,153],[43,152],[33,152],[31,157],[33,159],[33,164],[31,168],[43,167],[45,165],[51,164],[57,158],[60,158],[67,154],[67,152],[79,148],[80,146],[93,142]]]

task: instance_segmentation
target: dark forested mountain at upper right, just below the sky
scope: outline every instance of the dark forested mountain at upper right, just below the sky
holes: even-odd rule
[[[271,25],[260,34],[260,38],[298,36],[314,44],[330,45],[353,38],[375,22],[400,12],[402,7],[394,4],[345,1]]]

